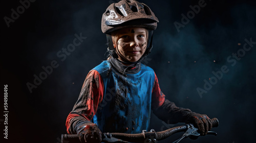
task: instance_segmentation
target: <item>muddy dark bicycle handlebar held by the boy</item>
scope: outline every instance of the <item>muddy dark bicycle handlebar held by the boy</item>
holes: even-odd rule
[[[212,118],[212,127],[218,127],[219,121],[217,118]],[[178,126],[174,128],[170,128],[161,132],[155,132],[155,130],[151,130],[150,132],[146,132],[146,130],[143,130],[142,133],[138,134],[127,134],[127,133],[103,133],[102,134],[102,141],[104,142],[157,142],[158,140],[163,140],[175,133],[178,132],[185,132],[190,129],[190,134],[185,133],[185,137],[189,137],[190,135],[195,135],[195,132],[198,130],[195,128],[192,124],[186,124],[183,126]],[[210,132],[212,134],[212,132]],[[217,133],[215,133],[217,135]],[[184,136],[183,135],[183,136]],[[112,138],[112,139],[111,139]],[[184,138],[184,137],[183,137]],[[124,141],[125,140],[125,141]],[[61,141],[62,143],[66,142],[80,142],[78,136],[76,134],[68,135],[68,134],[62,134],[61,135]]]

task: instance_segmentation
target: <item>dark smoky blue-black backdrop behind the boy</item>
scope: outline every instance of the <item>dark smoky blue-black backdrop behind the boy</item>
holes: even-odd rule
[[[35,1],[9,28],[4,17],[11,18],[11,9],[16,11],[21,4],[2,2],[1,82],[2,90],[8,84],[9,95],[9,139],[4,142],[60,142],[83,80],[90,69],[106,59],[100,23],[102,13],[113,2],[117,1]],[[206,6],[180,32],[174,22],[181,23],[181,14],[186,15],[191,11],[189,6],[198,5],[199,0],[140,2],[147,4],[160,21],[152,54],[143,63],[155,70],[166,98],[220,121],[220,126],[212,129],[218,136],[183,142],[254,142],[256,44],[233,66],[227,57],[242,49],[245,39],[256,41],[255,2],[205,1]],[[61,61],[58,51],[67,48],[74,34],[80,33],[87,39]],[[33,84],[34,75],[39,76],[44,71],[42,66],[51,65],[53,60],[59,66],[31,93],[27,83]],[[209,81],[214,76],[212,71],[219,71],[223,65],[229,71],[200,97],[197,88],[203,89],[204,80]],[[0,120],[3,132],[4,117]],[[152,114],[151,128],[156,131],[173,126]],[[172,142],[181,135],[159,142]],[[3,137],[1,133],[1,140]]]

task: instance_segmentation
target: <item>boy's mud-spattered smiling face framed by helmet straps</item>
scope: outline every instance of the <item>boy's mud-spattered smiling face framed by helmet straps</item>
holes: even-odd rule
[[[146,29],[124,28],[116,33],[114,47],[121,61],[136,62],[146,51]]]

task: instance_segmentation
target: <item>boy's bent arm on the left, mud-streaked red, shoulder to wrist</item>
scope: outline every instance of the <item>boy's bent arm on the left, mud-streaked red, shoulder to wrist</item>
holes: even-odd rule
[[[83,134],[90,130],[100,130],[91,122],[103,98],[103,81],[96,70],[91,70],[84,80],[81,92],[73,110],[67,117],[66,127],[69,134]],[[101,135],[101,133],[99,133]]]

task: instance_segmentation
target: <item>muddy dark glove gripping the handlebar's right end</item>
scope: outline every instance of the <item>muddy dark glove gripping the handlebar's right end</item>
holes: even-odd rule
[[[191,112],[187,115],[187,120],[185,123],[192,123],[198,127],[201,135],[206,135],[208,131],[212,128],[212,123],[207,115],[198,114]]]

